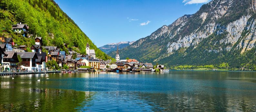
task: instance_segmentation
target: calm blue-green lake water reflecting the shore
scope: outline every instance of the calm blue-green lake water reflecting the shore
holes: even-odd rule
[[[0,111],[252,112],[256,72],[0,76]]]

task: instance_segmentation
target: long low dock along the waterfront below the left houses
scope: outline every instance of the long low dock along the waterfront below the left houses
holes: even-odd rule
[[[8,75],[24,75],[24,74],[44,74],[44,73],[61,73],[61,71],[47,71],[47,72],[1,72],[1,76]]]

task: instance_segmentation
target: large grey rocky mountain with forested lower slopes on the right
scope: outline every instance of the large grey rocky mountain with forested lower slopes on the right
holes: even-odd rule
[[[218,65],[256,70],[256,0],[212,0],[119,51],[120,58],[167,66]],[[109,53],[112,57],[115,52]]]

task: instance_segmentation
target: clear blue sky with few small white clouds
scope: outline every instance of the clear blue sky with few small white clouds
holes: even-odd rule
[[[54,0],[97,45],[136,41],[209,0]]]

